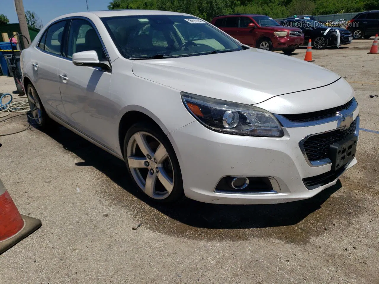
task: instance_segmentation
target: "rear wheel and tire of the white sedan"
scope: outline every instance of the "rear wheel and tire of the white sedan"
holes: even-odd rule
[[[28,121],[31,125],[41,128],[42,130],[50,130],[56,127],[56,123],[47,115],[41,99],[32,84],[28,84],[26,95],[29,101],[30,112],[28,112]]]

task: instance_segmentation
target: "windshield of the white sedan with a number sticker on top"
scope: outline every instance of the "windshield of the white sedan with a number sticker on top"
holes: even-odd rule
[[[217,28],[193,16],[140,15],[102,21],[121,55],[158,59],[242,50]]]

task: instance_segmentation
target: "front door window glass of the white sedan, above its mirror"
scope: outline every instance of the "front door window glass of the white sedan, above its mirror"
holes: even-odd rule
[[[91,23],[82,19],[74,19],[69,30],[67,57],[72,58],[74,53],[88,50],[96,51],[99,61],[108,61],[103,45]]]

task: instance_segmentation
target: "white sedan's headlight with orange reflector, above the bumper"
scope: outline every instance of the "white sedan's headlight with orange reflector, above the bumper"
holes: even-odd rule
[[[186,92],[181,94],[188,111],[211,130],[244,136],[284,136],[276,117],[265,109]]]

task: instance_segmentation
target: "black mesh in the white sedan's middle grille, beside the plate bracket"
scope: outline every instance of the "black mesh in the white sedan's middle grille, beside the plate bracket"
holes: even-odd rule
[[[309,161],[326,159],[329,156],[329,146],[352,135],[356,131],[357,119],[345,130],[334,130],[310,136],[304,141],[303,147]]]

